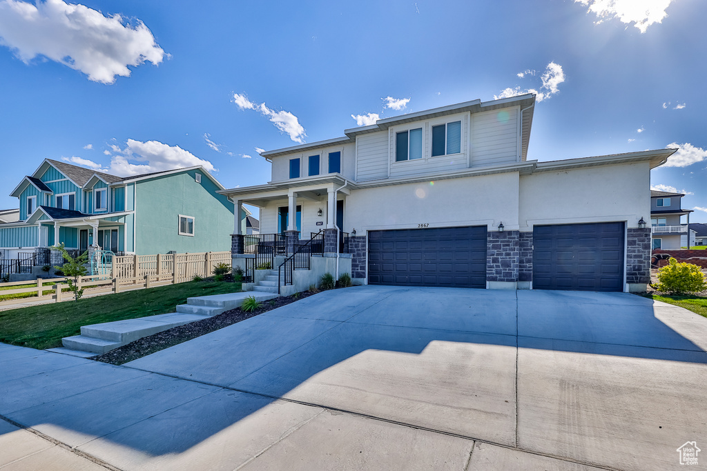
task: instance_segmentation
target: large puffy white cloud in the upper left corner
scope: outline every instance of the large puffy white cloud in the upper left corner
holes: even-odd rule
[[[165,56],[144,23],[133,23],[62,0],[0,0],[0,44],[18,59],[28,64],[45,56],[100,83],[114,83],[115,76],[130,76],[128,66],[159,64]]]

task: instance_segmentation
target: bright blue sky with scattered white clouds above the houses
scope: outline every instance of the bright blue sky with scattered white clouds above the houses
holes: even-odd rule
[[[651,184],[707,222],[706,21],[701,0],[0,0],[0,208],[45,157],[248,186],[256,148],[534,90],[529,159],[679,146]]]

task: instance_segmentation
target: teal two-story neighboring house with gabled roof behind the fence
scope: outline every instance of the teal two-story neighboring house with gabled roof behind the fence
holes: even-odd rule
[[[45,160],[11,193],[20,220],[0,226],[5,258],[64,243],[116,254],[229,251],[233,202],[203,167],[116,177]],[[240,221],[245,232],[242,210]]]

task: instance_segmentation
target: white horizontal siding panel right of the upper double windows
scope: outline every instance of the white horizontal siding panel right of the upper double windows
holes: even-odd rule
[[[472,114],[472,167],[518,162],[518,107]]]

